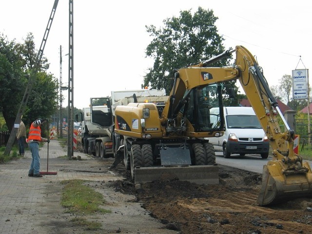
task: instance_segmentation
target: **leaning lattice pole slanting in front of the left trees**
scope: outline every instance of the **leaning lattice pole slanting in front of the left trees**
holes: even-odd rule
[[[23,115],[23,113],[25,111],[25,107],[27,105],[29,94],[31,93],[32,88],[33,88],[34,76],[37,73],[39,64],[41,62],[41,58],[42,58],[42,55],[43,55],[43,50],[44,50],[46,41],[47,41],[48,36],[49,36],[50,28],[52,26],[52,22],[53,22],[53,19],[54,19],[54,16],[55,16],[55,12],[57,10],[58,3],[59,3],[59,0],[55,0],[54,1],[53,8],[52,8],[52,11],[51,11],[51,14],[50,14],[50,18],[48,20],[48,24],[47,24],[47,27],[45,29],[45,32],[44,32],[44,35],[43,35],[43,39],[41,41],[40,49],[39,49],[38,54],[37,54],[36,62],[35,62],[35,65],[31,69],[31,72],[30,72],[30,75],[29,75],[29,78],[28,78],[28,83],[27,83],[27,86],[26,86],[26,89],[25,89],[25,93],[24,93],[23,99],[22,99],[22,101],[20,103],[19,112],[18,112],[18,114],[16,116],[16,119],[15,119],[15,122],[14,122],[14,126],[12,128],[12,131],[11,131],[8,143],[6,144],[6,147],[5,147],[5,150],[4,150],[4,155],[10,155],[12,146],[14,144],[15,137],[16,137],[19,125],[20,125],[21,116]]]

